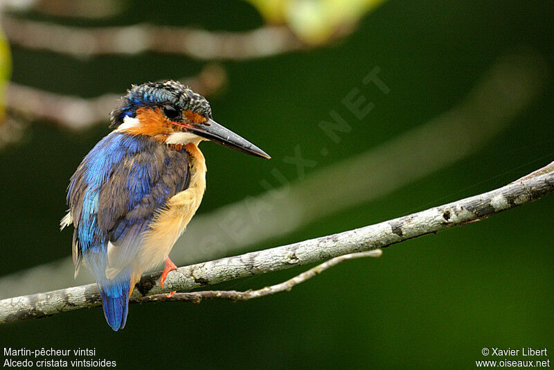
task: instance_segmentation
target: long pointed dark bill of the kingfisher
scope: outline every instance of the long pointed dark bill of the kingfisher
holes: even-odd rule
[[[222,146],[226,146],[227,148],[238,150],[239,152],[249,155],[255,155],[256,157],[271,159],[266,152],[255,146],[253,143],[247,141],[246,139],[242,139],[242,137],[238,136],[238,134],[235,134],[231,130],[227,130],[219,123],[213,121],[213,119],[208,119],[208,121],[204,124],[191,126],[192,127],[189,128],[191,132],[194,132],[198,136],[205,137],[206,139],[210,139],[211,141],[215,141]]]

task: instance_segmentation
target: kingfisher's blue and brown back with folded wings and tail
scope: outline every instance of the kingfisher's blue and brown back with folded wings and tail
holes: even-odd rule
[[[190,179],[186,151],[150,136],[112,132],[84,158],[69,184],[73,259],[96,276],[105,315],[125,325],[132,261],[154,215]],[[75,256],[75,253],[77,256]]]

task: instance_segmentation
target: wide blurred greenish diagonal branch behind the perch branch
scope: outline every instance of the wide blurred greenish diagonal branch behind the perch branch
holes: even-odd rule
[[[301,182],[289,182],[274,168],[263,178],[266,189],[277,184],[273,190],[196,215],[171,258],[185,265],[237,254],[447,168],[506,130],[542,91],[548,73],[542,55],[529,51],[504,55],[449,111],[355,157],[322,166]],[[322,136],[322,145],[332,145]],[[206,235],[206,230],[211,232]],[[91,282],[89,274],[74,281],[72,271],[69,257],[2,276],[0,298]]]

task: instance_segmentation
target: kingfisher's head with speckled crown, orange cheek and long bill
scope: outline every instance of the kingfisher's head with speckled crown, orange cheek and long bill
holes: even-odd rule
[[[111,125],[129,134],[153,136],[167,144],[211,140],[228,148],[269,159],[266,152],[213,121],[204,96],[175,81],[134,85],[111,112]]]

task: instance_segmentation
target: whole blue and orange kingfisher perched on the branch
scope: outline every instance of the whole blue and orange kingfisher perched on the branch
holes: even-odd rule
[[[96,277],[107,323],[125,327],[129,297],[143,272],[165,261],[160,285],[177,266],[169,253],[206,189],[209,140],[270,159],[212,119],[208,100],[172,80],[134,85],[111,112],[114,130],[84,157],[67,189],[75,276]],[[171,292],[173,294],[175,292]]]

